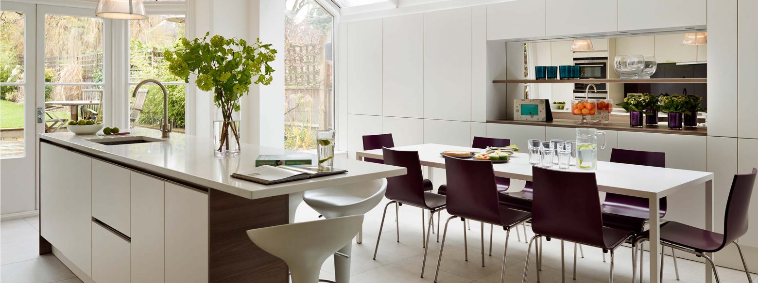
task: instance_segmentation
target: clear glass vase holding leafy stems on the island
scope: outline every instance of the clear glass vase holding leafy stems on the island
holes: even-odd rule
[[[218,157],[236,156],[240,154],[240,112],[233,111],[224,114],[216,110],[213,120],[214,154]]]

